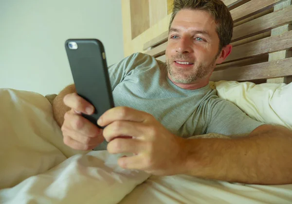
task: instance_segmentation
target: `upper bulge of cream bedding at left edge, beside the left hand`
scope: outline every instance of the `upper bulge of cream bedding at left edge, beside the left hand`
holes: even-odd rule
[[[76,153],[87,153],[64,145],[44,96],[0,89],[0,99],[0,188],[13,187]]]

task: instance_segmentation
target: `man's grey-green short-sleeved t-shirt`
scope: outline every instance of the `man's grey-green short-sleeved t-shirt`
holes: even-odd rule
[[[177,136],[248,134],[263,124],[219,98],[209,85],[196,90],[174,85],[166,65],[147,54],[134,53],[110,66],[109,73],[115,106],[150,113]]]

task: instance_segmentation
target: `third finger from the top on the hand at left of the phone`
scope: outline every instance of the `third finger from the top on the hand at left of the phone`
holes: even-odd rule
[[[96,146],[104,141],[104,137],[102,135],[98,135],[96,137],[89,137],[72,130],[67,130],[66,132],[64,132],[64,135],[70,136],[73,140],[89,146],[94,145]]]

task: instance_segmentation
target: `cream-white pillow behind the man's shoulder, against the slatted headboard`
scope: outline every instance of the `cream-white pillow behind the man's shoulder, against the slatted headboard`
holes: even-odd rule
[[[292,130],[292,83],[220,81],[215,85],[220,98],[235,103],[251,118]]]

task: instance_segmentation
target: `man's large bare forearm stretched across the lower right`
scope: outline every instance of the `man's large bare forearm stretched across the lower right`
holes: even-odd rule
[[[186,141],[186,173],[247,184],[292,183],[292,132],[272,127],[237,139]]]

